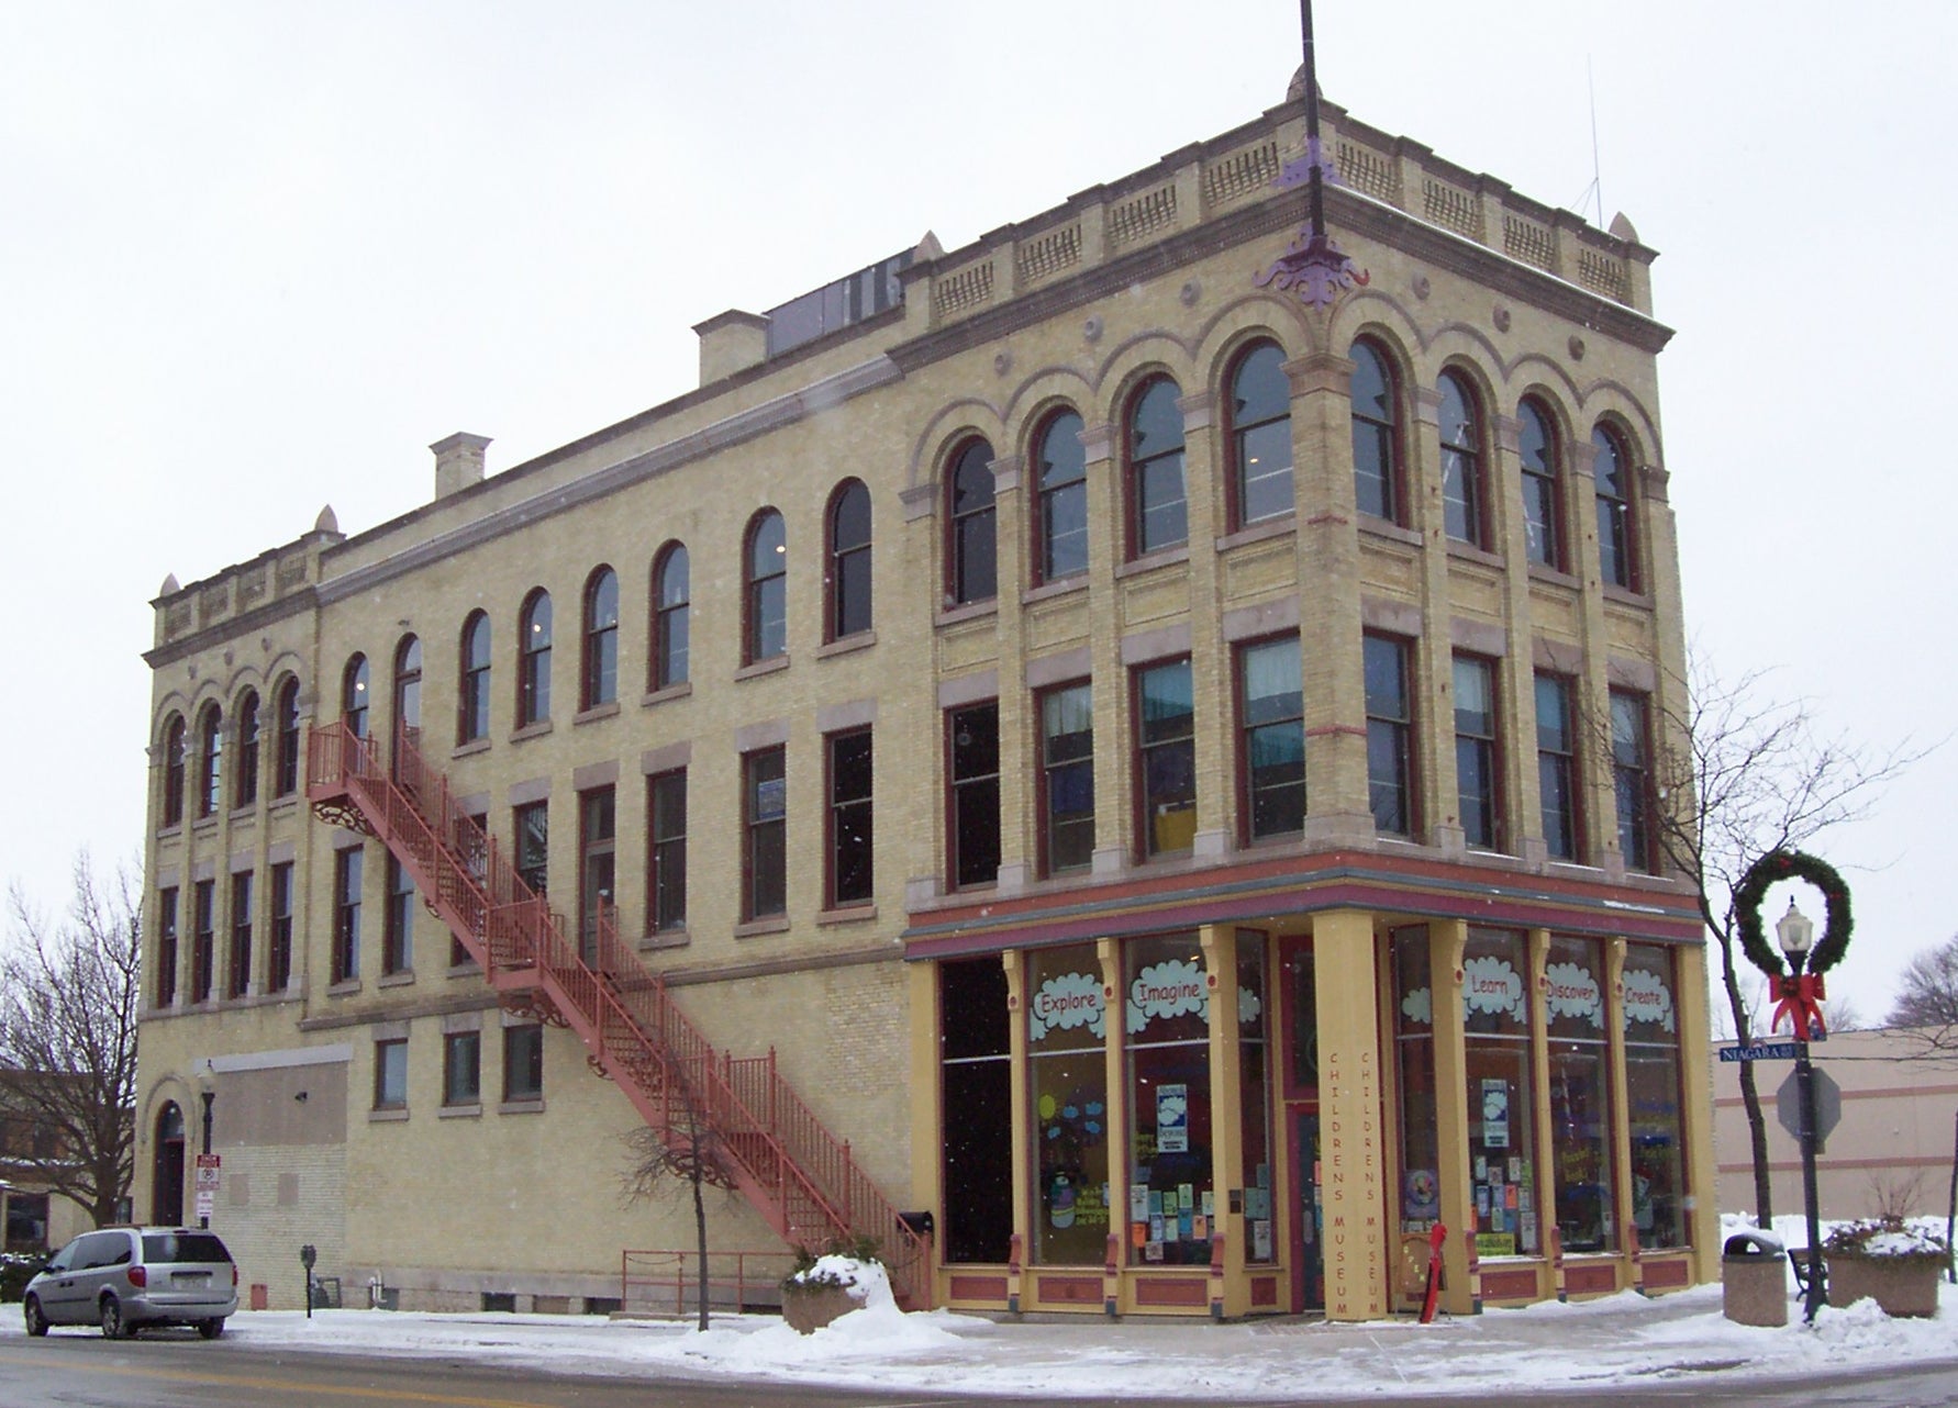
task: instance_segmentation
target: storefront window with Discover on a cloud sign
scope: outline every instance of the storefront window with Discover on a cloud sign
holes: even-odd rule
[[[1551,1173],[1564,1251],[1613,1251],[1611,1052],[1604,1026],[1604,946],[1553,938],[1545,969],[1551,1044]]]

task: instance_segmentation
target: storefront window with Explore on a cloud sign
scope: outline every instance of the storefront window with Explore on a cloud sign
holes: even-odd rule
[[[1034,1108],[1034,1263],[1102,1265],[1108,1251],[1106,1007],[1093,944],[1026,960]]]

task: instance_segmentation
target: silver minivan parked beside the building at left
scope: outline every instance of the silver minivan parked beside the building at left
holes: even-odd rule
[[[239,1269],[215,1232],[198,1228],[102,1228],[84,1232],[27,1283],[27,1334],[49,1326],[102,1326],[121,1339],[141,1326],[225,1332],[239,1308]]]

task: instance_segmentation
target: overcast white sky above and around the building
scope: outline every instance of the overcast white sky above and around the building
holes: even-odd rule
[[[1958,6],[1320,0],[1357,117],[1606,217],[1655,266],[1688,629],[1821,725],[1942,738]],[[948,249],[1284,96],[1292,0],[266,6],[0,0],[0,877],[141,854],[151,644],[192,582],[697,382],[693,323]],[[1931,452],[1933,464],[1915,456]],[[1958,746],[1821,850],[1880,1016]]]

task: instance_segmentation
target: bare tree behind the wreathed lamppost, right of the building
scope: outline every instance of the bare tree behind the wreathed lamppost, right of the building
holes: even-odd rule
[[[1846,734],[1821,734],[1805,699],[1778,695],[1764,672],[1723,680],[1694,656],[1686,715],[1660,734],[1653,783],[1666,860],[1694,881],[1700,918],[1719,950],[1721,989],[1735,1036],[1752,1034],[1752,979],[1741,967],[1733,891],[1774,850],[1809,850],[1827,832],[1868,817],[1884,787],[1925,756],[1909,740],[1889,750]],[[1754,1210],[1774,1216],[1768,1187],[1768,1124],[1754,1063],[1741,1063],[1754,1155]]]

